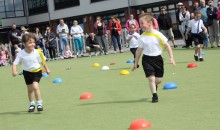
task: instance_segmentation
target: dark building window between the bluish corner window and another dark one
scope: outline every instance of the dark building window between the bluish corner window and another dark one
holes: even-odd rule
[[[47,0],[28,0],[28,11],[30,15],[48,12]]]

